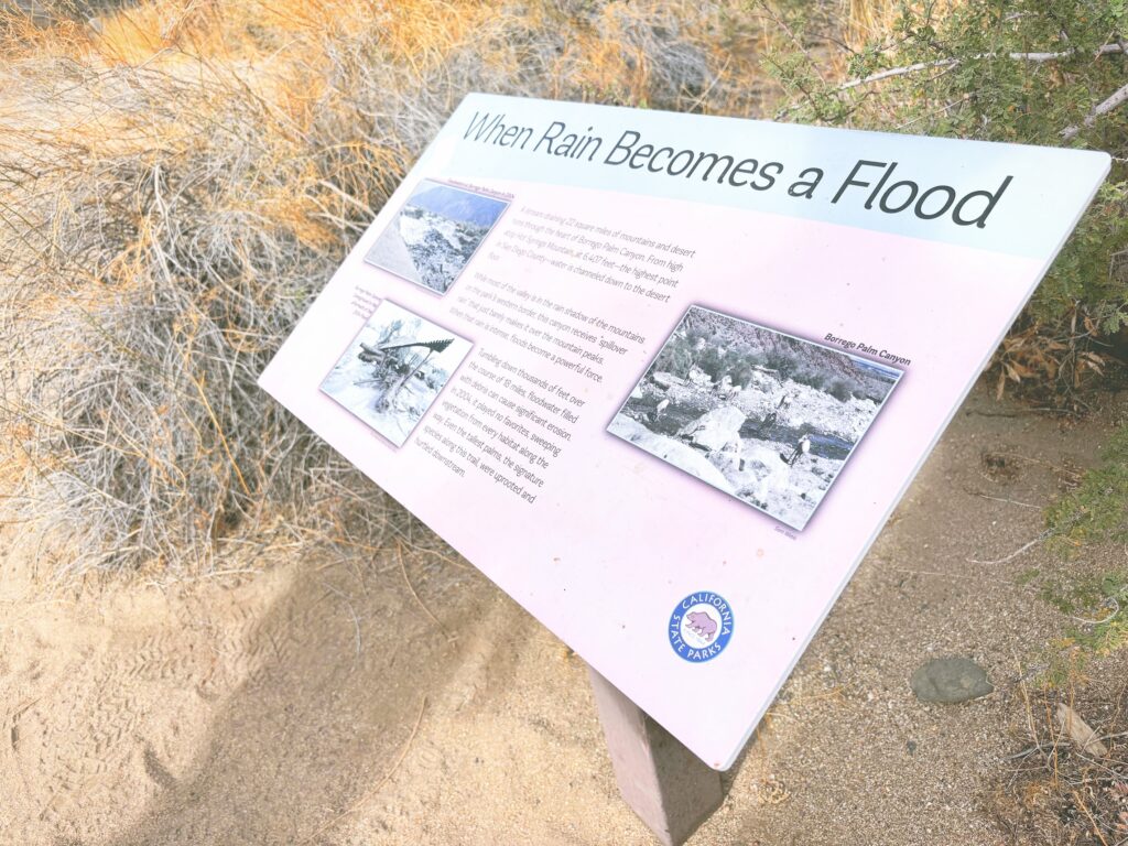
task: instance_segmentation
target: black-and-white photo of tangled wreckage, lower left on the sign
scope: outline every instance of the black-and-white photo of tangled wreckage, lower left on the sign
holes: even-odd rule
[[[321,391],[402,447],[470,346],[384,300],[321,381]]]

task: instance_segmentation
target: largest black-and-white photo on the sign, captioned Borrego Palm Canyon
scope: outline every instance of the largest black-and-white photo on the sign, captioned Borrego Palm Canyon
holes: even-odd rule
[[[801,530],[900,377],[691,306],[607,431]]]

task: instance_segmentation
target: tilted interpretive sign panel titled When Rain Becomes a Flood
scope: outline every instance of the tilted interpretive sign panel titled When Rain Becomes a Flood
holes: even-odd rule
[[[261,381],[723,769],[1108,168],[472,95]]]

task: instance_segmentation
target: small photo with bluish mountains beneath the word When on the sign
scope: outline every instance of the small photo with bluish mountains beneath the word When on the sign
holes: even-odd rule
[[[506,208],[504,200],[424,179],[364,261],[444,294]]]

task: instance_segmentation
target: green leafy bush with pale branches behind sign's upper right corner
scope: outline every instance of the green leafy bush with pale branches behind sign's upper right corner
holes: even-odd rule
[[[1006,381],[1036,382],[1069,396],[1104,371],[1126,334],[1126,6],[900,2],[858,37],[848,20],[812,19],[808,5],[772,10],[783,26],[765,64],[787,92],[778,118],[1114,157],[1108,182],[999,351],[1001,389]]]

